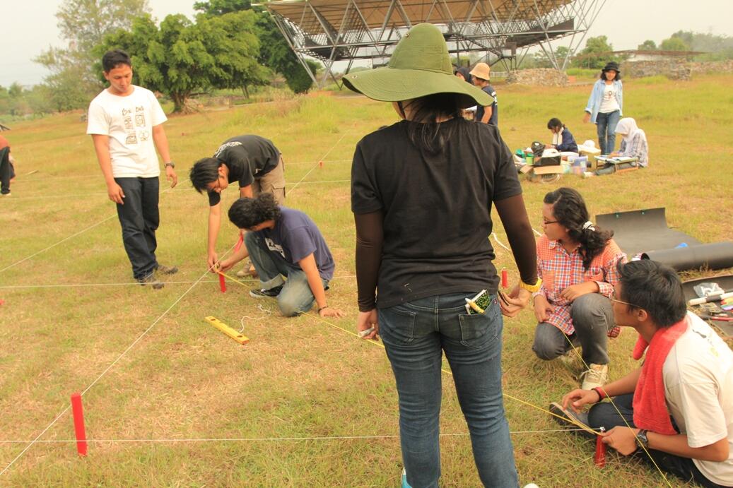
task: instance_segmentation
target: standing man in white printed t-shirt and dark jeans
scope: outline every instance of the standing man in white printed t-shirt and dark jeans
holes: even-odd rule
[[[92,136],[97,160],[107,183],[109,199],[117,204],[133,276],[140,284],[163,284],[155,272],[173,274],[177,267],[163,266],[155,258],[158,212],[158,177],[161,170],[155,149],[165,162],[173,188],[178,182],[163,129],[166,114],[155,95],[132,84],[132,62],[125,51],[108,51],[102,58],[104,89],[89,104],[86,133]]]

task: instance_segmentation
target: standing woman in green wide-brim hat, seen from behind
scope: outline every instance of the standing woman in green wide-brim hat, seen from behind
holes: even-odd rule
[[[345,75],[344,83],[392,102],[401,119],[358,143],[351,207],[357,329],[373,328],[366,339],[379,334],[397,380],[405,485],[438,486],[444,351],[480,478],[517,486],[501,394],[501,314],[526,306],[536,253],[511,152],[496,127],[460,117],[490,97],[453,75],[443,34],[428,23],[405,34],[388,66]],[[492,202],[523,282],[501,306],[488,239]]]

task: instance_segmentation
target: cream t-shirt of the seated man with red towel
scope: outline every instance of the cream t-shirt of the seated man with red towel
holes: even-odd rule
[[[693,462],[705,478],[733,486],[733,352],[710,325],[688,312],[688,330],[669,351],[662,374],[667,407],[693,448],[727,438],[723,462]]]

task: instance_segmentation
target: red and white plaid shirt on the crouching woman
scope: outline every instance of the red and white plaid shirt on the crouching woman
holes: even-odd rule
[[[555,311],[547,319],[549,324],[570,336],[575,332],[570,317],[570,300],[560,296],[562,290],[574,284],[595,281],[599,293],[609,299],[614,296],[614,286],[619,282],[616,263],[626,261],[624,254],[613,239],[605,245],[603,252],[595,256],[588,267],[583,269],[583,256],[580,245],[572,253],[565,250],[559,241],[549,240],[542,235],[537,240],[537,276],[542,278],[542,286],[538,295],[544,295]],[[609,337],[619,335],[619,327],[608,330]]]

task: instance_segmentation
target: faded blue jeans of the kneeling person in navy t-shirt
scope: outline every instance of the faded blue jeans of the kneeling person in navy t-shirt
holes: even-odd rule
[[[265,239],[257,232],[247,232],[244,236],[249,259],[259,275],[259,284],[263,289],[282,286],[277,296],[277,305],[280,313],[285,317],[294,317],[309,311],[315,301],[311,287],[308,284],[306,273],[301,267],[287,261],[278,251],[268,248]],[[287,281],[283,279],[287,277]],[[321,278],[323,289],[328,286],[328,280]]]

